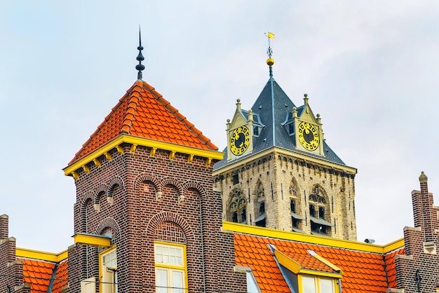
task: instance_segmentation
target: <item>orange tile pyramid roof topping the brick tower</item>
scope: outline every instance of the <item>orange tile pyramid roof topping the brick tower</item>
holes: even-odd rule
[[[144,81],[136,81],[69,165],[120,134],[217,151],[208,137]]]

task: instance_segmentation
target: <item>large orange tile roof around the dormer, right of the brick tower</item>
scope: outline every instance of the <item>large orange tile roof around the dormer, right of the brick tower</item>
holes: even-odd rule
[[[237,266],[252,268],[262,293],[290,292],[268,244],[302,264],[304,268],[329,271],[331,268],[310,257],[313,250],[343,271],[342,289],[346,293],[386,292],[388,288],[382,254],[347,250],[292,240],[279,240],[240,233],[234,234]]]

